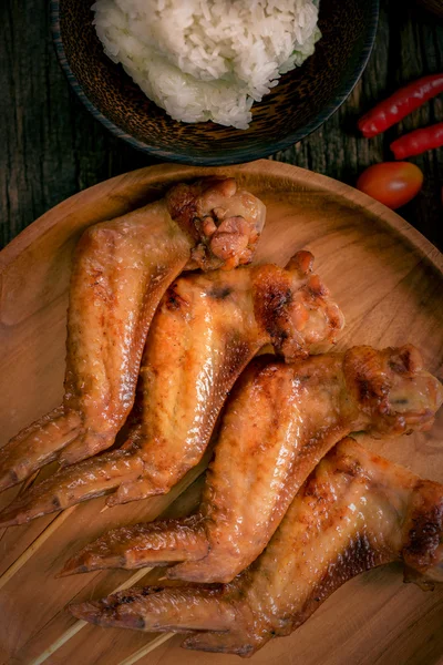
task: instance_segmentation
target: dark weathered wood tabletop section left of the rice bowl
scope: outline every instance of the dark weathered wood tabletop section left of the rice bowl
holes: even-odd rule
[[[0,246],[68,196],[154,163],[87,113],[62,73],[50,3],[0,3]]]

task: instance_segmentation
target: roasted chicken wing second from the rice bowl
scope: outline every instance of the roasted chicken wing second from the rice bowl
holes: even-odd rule
[[[112,491],[111,505],[167,492],[198,461],[234,381],[267,344],[286,360],[334,340],[338,306],[298,252],[287,268],[190,274],[165,294],[142,360],[123,449],[35,484],[0,514],[14,524]]]

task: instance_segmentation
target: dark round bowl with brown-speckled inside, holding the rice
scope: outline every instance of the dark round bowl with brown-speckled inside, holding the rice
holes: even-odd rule
[[[236,164],[270,155],[321,125],[359,80],[375,37],[379,0],[321,0],[313,55],[253,106],[246,131],[179,123],[114,64],[92,24],[93,0],[52,2],[52,30],[68,79],[91,113],[116,136],[161,160]]]

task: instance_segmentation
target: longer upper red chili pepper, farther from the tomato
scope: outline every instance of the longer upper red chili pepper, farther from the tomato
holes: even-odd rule
[[[377,136],[440,92],[443,92],[443,73],[413,81],[363,115],[359,130],[367,139]]]

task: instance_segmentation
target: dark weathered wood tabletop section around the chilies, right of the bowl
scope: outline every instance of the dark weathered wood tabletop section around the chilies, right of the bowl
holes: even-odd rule
[[[400,85],[443,70],[443,22],[414,2],[382,1],[375,44],[368,68],[347,102],[315,134],[275,155],[276,160],[311,168],[350,185],[369,165],[392,161],[390,143],[405,132],[443,120],[436,98],[371,140],[356,131],[358,117]],[[411,158],[424,173],[419,196],[400,214],[437,247],[443,247],[443,149]]]

